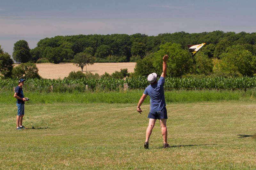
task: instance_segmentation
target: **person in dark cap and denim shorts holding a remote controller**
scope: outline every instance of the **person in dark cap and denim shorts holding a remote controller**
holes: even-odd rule
[[[22,120],[23,120],[23,116],[24,116],[24,104],[25,104],[25,101],[28,100],[28,98],[24,98],[24,94],[22,91],[24,81],[26,81],[26,80],[25,79],[19,80],[19,85],[17,85],[17,87],[15,88],[15,92],[13,95],[13,97],[15,97],[17,99],[16,105],[18,108],[17,118],[16,118],[16,124],[17,124],[16,130],[25,129],[25,127],[22,126]]]

